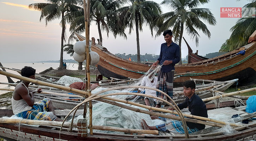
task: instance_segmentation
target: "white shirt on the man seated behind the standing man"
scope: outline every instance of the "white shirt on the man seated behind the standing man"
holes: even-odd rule
[[[151,87],[151,88],[156,88],[157,85],[157,78],[154,77],[154,82],[151,83],[149,81],[148,76],[145,76],[142,81],[141,81],[141,86],[147,86],[147,87]],[[143,91],[144,88],[139,88],[140,91]],[[156,97],[156,91],[155,90],[150,90],[150,89],[145,89],[145,94],[147,95],[151,95],[151,96],[155,96]],[[156,99],[154,99],[156,101]]]

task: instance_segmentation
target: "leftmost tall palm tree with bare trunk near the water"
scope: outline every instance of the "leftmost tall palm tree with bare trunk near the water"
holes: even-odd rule
[[[60,66],[59,69],[63,69],[63,44],[65,39],[66,21],[62,20],[65,13],[69,11],[75,11],[77,1],[76,0],[46,0],[49,3],[34,3],[30,4],[29,8],[41,11],[40,22],[45,19],[47,26],[48,22],[52,22],[55,19],[61,19],[61,50],[60,50]]]

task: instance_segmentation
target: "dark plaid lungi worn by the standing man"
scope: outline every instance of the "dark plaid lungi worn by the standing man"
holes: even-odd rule
[[[157,85],[156,88],[167,93],[168,96],[172,98],[173,96],[173,76],[174,76],[174,70],[164,73],[162,70],[159,71],[158,77],[157,77]],[[166,96],[160,92],[156,92],[156,97],[166,99]],[[156,104],[163,103],[160,100],[157,100]]]

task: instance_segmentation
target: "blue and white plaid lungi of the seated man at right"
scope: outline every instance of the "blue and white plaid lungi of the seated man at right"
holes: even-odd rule
[[[167,121],[163,124],[156,125],[156,128],[159,131],[164,131],[164,132],[172,132],[172,133],[180,133],[180,134],[185,133],[181,121]],[[189,127],[187,127],[187,130],[189,131],[189,134],[199,131],[197,128],[190,129]]]

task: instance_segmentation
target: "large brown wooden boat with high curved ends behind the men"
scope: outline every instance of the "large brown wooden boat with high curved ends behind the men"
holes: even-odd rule
[[[76,34],[79,40],[85,38]],[[255,33],[250,39],[256,38]],[[100,55],[100,62],[97,64],[99,72],[107,77],[118,79],[139,78],[147,72],[151,65],[137,63],[121,59],[107,51],[105,47],[93,42],[91,50]],[[245,54],[238,54],[240,50],[245,50]],[[207,60],[189,63],[186,65],[175,65],[175,74],[195,72],[180,75],[180,78],[174,81],[174,84],[195,79],[208,79],[217,81],[226,81],[239,79],[239,85],[256,82],[256,41],[250,40],[249,44],[237,50],[220,55]]]

